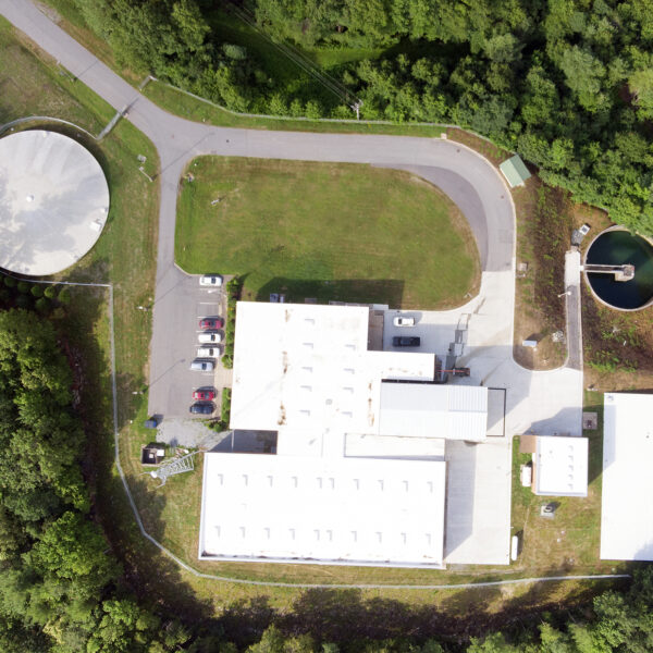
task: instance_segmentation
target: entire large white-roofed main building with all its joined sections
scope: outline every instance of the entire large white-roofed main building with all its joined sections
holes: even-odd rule
[[[205,455],[200,558],[442,566],[444,443],[485,439],[488,389],[368,350],[368,307],[236,315],[230,427],[275,431],[276,455]]]

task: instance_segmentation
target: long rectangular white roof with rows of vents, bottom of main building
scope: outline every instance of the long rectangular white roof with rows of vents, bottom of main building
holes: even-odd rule
[[[446,463],[207,453],[199,556],[441,566]]]

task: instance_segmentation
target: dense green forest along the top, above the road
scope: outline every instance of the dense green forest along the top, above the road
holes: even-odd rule
[[[653,234],[651,0],[74,1],[119,61],[236,111],[353,116],[337,95],[275,79],[229,42],[226,11],[308,53],[373,52],[329,70],[362,119],[471,128]]]

